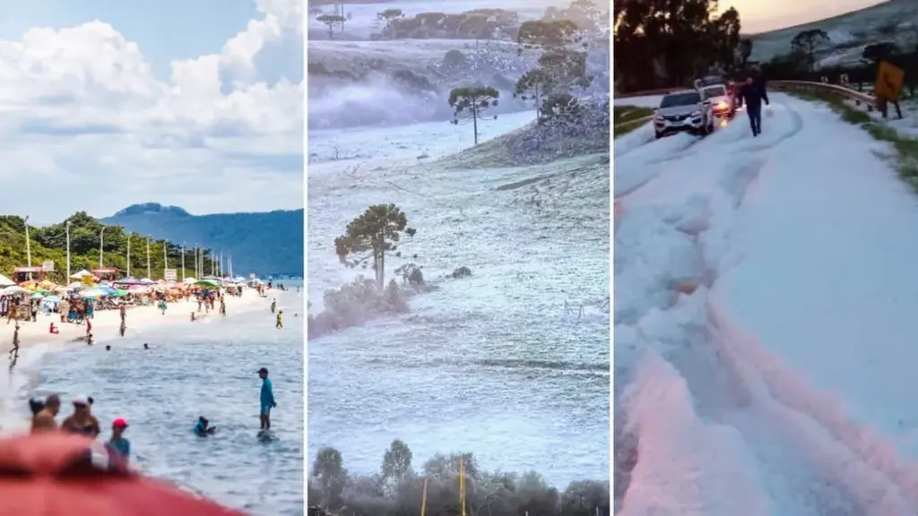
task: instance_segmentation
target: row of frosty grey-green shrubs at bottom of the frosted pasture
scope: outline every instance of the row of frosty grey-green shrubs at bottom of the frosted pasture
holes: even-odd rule
[[[337,450],[322,448],[309,475],[310,504],[326,513],[346,508],[342,513],[353,516],[415,516],[420,515],[426,481],[426,513],[459,514],[461,458],[467,514],[594,516],[597,510],[610,514],[608,481],[577,480],[559,491],[534,471],[522,475],[483,471],[470,453],[436,454],[420,472],[412,468],[412,458],[408,444],[397,439],[383,454],[381,473],[362,477],[347,472]]]

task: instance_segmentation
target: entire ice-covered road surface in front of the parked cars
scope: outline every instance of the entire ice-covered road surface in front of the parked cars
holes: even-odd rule
[[[615,141],[617,509],[918,514],[918,196],[827,107],[763,126]]]

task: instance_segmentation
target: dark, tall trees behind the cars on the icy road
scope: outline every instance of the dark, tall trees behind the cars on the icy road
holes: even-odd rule
[[[616,79],[621,91],[689,84],[711,67],[733,69],[740,16],[716,15],[714,0],[613,2]]]

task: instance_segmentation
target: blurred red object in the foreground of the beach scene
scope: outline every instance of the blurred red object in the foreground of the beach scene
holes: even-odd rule
[[[0,516],[246,516],[130,472],[104,446],[49,432],[0,439]]]

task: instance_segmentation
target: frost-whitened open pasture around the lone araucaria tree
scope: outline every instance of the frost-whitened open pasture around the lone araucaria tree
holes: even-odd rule
[[[531,120],[498,119],[504,126],[489,135]],[[339,132],[342,147],[382,158],[309,164],[313,310],[321,309],[323,291],[357,274],[339,264],[334,238],[373,204],[395,203],[407,213],[418,233],[399,249],[417,253],[412,261],[439,287],[413,298],[408,315],[308,343],[310,464],[330,445],[352,472],[373,473],[400,438],[415,466],[438,452],[463,451],[490,470],[536,469],[561,488],[608,478],[608,166],[409,168],[402,163],[417,163],[418,151],[442,155],[468,145],[431,141],[427,127],[375,136],[355,130],[353,140]],[[324,156],[329,140],[328,132],[310,133],[309,153]],[[511,186],[545,174],[550,184]],[[404,263],[390,258],[388,277]],[[473,276],[443,278],[460,265]]]

